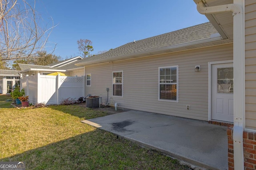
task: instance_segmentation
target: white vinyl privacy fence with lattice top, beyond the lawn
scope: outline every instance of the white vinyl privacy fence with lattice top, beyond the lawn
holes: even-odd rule
[[[44,102],[46,105],[60,104],[62,99],[84,97],[85,77],[47,76],[38,73],[34,76],[22,76],[21,89],[32,104]]]

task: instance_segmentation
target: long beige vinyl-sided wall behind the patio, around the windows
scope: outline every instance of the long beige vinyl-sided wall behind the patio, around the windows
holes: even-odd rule
[[[102,96],[106,104],[192,119],[208,120],[208,62],[233,59],[233,45],[200,49],[86,66],[92,86],[85,94]],[[158,67],[178,65],[179,102],[158,101]],[[195,72],[196,65],[201,66]],[[123,71],[123,97],[112,96],[112,71]],[[186,109],[190,105],[190,110]]]

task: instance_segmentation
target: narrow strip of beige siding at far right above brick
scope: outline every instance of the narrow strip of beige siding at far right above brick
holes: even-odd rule
[[[245,126],[256,130],[256,2],[245,1]]]

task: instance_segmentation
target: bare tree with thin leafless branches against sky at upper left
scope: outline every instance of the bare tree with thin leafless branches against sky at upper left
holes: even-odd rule
[[[55,26],[53,20],[50,27],[48,24],[43,26],[35,5],[36,0],[0,0],[1,60],[38,57],[36,54],[44,51]],[[55,46],[52,46],[51,53]]]

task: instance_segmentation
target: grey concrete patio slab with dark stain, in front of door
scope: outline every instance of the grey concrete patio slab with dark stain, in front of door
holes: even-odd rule
[[[227,127],[144,111],[125,111],[82,121],[190,165],[228,169]]]

